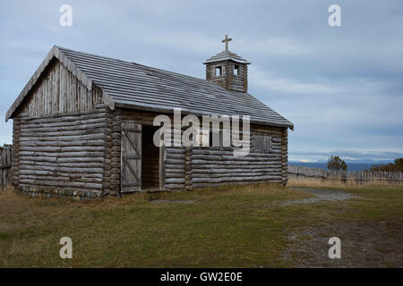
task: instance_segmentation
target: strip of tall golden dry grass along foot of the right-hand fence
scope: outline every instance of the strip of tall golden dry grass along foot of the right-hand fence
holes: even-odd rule
[[[354,180],[343,182],[340,180],[322,180],[316,178],[292,178],[287,182],[287,187],[305,188],[396,188],[403,184],[393,181],[371,180],[358,183]]]

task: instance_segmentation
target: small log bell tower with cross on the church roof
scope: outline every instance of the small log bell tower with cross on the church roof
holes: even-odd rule
[[[232,38],[222,40],[226,49],[206,60],[206,80],[218,83],[228,90],[247,92],[248,90],[248,61],[228,50],[228,42]]]

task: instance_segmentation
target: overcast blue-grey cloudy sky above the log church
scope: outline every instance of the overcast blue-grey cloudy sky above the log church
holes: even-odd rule
[[[62,4],[73,26],[62,27]],[[341,27],[330,27],[330,4]],[[198,78],[224,49],[250,61],[249,92],[295,124],[289,159],[403,156],[403,1],[2,1],[4,115],[53,45]]]

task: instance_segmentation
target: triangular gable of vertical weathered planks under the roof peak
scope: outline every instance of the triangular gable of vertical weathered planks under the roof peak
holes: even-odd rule
[[[95,88],[92,80],[53,46],[5,114],[5,122],[13,118],[17,110],[30,115],[58,114],[89,110],[97,103],[105,103],[114,109],[113,99]]]

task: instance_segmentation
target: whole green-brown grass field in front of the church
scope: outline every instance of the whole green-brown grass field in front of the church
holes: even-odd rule
[[[81,202],[0,191],[0,267],[401,267],[388,254],[402,250],[403,188],[346,190],[354,198],[293,206],[283,203],[313,195],[269,184]],[[314,239],[338,234],[347,260],[317,258],[330,246]],[[59,257],[62,237],[73,259]]]

